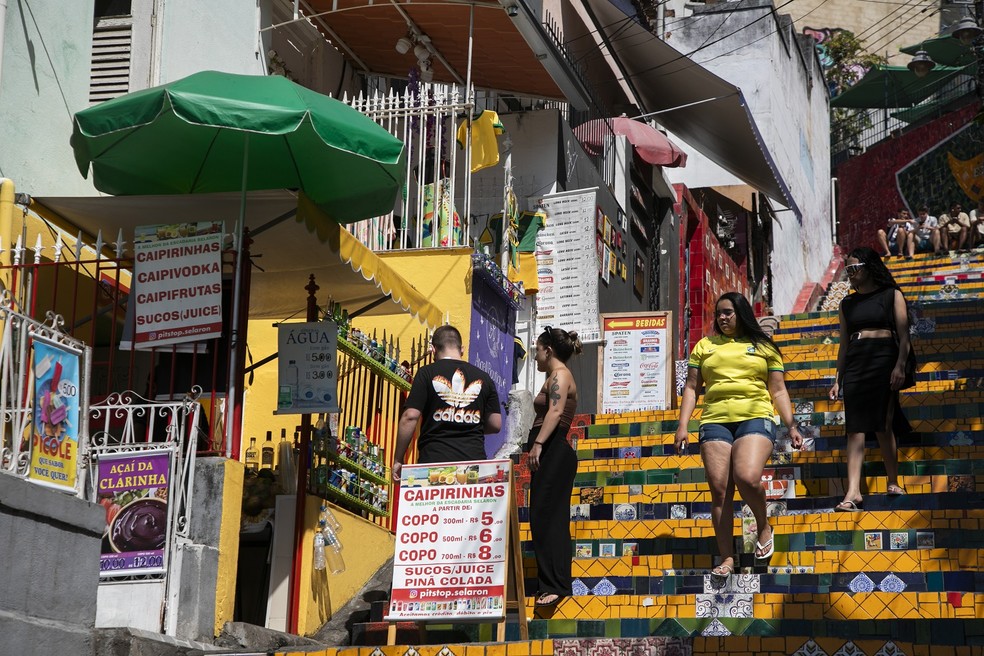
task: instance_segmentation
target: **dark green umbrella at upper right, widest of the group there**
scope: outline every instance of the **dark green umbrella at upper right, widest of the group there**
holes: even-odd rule
[[[874,66],[857,84],[830,101],[831,107],[870,109],[912,107],[930,97],[958,75],[972,75],[976,66],[937,66],[916,77],[905,66]]]

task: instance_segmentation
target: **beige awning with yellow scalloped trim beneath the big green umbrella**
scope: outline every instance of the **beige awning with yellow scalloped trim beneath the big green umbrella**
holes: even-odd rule
[[[104,240],[114,242],[120,230],[129,240],[138,224],[223,220],[228,230],[238,218],[239,199],[239,194],[45,197],[34,198],[32,209],[70,232],[102,230]],[[311,200],[288,191],[250,192],[246,223],[254,233],[250,250],[257,265],[251,276],[251,319],[304,316],[304,286],[314,274],[322,304],[330,296],[355,312],[378,303],[365,314],[406,311],[431,327],[443,323],[439,308]]]

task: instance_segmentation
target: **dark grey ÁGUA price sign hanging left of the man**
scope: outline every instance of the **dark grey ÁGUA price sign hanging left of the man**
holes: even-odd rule
[[[279,415],[338,412],[338,326],[334,321],[277,328]]]

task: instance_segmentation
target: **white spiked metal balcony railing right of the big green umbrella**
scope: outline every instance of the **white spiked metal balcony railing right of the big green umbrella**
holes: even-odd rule
[[[394,211],[349,226],[367,247],[385,251],[471,243],[471,143],[466,140],[462,149],[455,142],[458,125],[474,107],[472,98],[474,90],[465,97],[461,87],[429,83],[421,83],[416,94],[390,89],[342,98],[407,149],[404,191]]]

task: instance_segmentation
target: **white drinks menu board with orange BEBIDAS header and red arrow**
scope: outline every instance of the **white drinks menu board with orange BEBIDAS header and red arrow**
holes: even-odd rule
[[[605,348],[598,368],[604,372],[598,391],[603,413],[666,410],[673,373],[671,312],[602,315]]]

